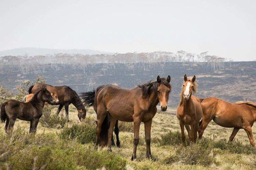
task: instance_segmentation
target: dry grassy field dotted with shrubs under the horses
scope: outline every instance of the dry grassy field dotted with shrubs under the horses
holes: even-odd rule
[[[56,106],[49,106],[35,135],[28,134],[29,123],[18,120],[12,134],[6,136],[4,123],[0,124],[0,169],[255,169],[256,151],[250,146],[244,130],[232,143],[227,140],[232,129],[211,122],[203,140],[195,145],[181,145],[180,126],[175,108],[158,112],[153,118],[151,151],[153,159],[146,158],[144,125],[140,128],[137,162],[131,161],[133,149],[132,123],[120,122],[121,147],[93,149],[96,114],[88,109],[86,120],[80,122],[74,106],[70,107],[70,122],[59,116]],[[46,112],[46,111],[45,111]],[[63,114],[64,111],[61,112]],[[47,122],[47,120],[53,120]],[[46,122],[44,122],[46,121]],[[48,128],[52,127],[52,128]],[[256,136],[256,128],[253,128]],[[115,138],[115,136],[114,136]],[[187,142],[188,143],[188,142]]]

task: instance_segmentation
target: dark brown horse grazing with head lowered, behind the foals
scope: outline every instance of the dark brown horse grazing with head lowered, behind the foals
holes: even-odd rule
[[[73,90],[71,87],[68,86],[51,86],[48,84],[35,84],[29,87],[28,93],[35,93],[40,87],[45,86],[47,90],[49,91],[56,91],[58,94],[59,98],[59,105],[57,114],[60,113],[61,109],[63,106],[65,106],[65,111],[66,111],[66,118],[69,121],[69,105],[72,103],[77,111],[78,111],[78,117],[79,120],[85,119],[86,116],[86,109],[83,106],[83,103],[80,99],[80,97],[77,95],[75,90]]]

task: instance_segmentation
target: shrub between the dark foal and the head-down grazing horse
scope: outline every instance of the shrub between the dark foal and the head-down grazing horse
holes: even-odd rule
[[[41,125],[47,128],[63,128],[67,123],[67,119],[62,115],[58,116],[57,114],[52,114],[51,112],[51,106],[44,107],[43,115],[39,119]]]

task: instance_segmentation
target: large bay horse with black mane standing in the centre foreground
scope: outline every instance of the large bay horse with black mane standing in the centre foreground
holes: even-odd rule
[[[104,136],[107,131],[108,151],[111,152],[111,137],[116,120],[134,122],[133,155],[131,159],[136,160],[140,124],[144,122],[146,156],[152,158],[150,150],[152,118],[156,114],[156,106],[159,102],[161,110],[167,110],[171,91],[170,80],[170,76],[167,79],[158,76],[157,81],[150,81],[130,90],[114,85],[106,85],[98,87],[95,92],[84,93],[84,104],[86,106],[93,105],[97,113],[96,147],[99,138]],[[110,124],[108,123],[108,115]]]

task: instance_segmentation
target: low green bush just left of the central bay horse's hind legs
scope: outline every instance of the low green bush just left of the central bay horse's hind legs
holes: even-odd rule
[[[95,142],[96,125],[73,124],[70,128],[64,128],[59,135],[62,139],[76,139],[82,144]]]

